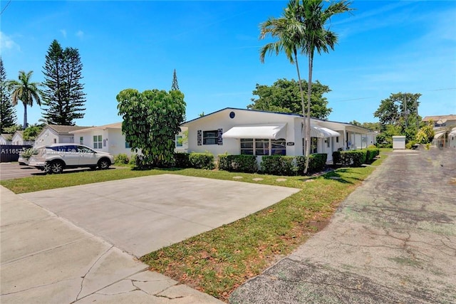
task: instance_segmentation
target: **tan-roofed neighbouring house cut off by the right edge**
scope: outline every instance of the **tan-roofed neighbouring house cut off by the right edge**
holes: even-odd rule
[[[432,121],[434,125],[434,140],[432,145],[437,147],[456,147],[456,115],[426,116],[423,122]]]

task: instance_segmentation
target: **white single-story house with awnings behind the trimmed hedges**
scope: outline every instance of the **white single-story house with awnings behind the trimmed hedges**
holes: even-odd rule
[[[304,154],[304,117],[298,114],[224,108],[184,122],[188,152],[218,154]],[[345,122],[311,118],[311,153],[356,150],[375,143],[375,133]],[[259,159],[260,161],[260,159]]]

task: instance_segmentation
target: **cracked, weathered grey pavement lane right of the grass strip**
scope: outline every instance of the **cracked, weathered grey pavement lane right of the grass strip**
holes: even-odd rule
[[[230,303],[456,303],[455,221],[456,150],[391,152],[323,231]]]

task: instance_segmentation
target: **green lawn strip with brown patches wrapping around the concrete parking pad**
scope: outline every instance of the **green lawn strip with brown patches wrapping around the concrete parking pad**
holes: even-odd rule
[[[383,158],[373,162],[373,166],[379,165]],[[277,177],[202,169],[137,171],[123,168],[26,177],[0,184],[15,193],[24,193],[172,173],[227,180],[242,177],[237,180],[301,189],[269,208],[141,258],[151,270],[227,301],[234,288],[257,276],[322,229],[341,201],[374,169],[341,168],[320,177]],[[255,178],[262,180],[254,181]]]

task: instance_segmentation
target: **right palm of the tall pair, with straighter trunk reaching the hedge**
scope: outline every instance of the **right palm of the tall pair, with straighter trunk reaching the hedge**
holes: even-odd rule
[[[346,11],[351,11],[351,2],[342,0],[330,4],[326,9],[323,8],[323,0],[302,0],[299,5],[299,16],[304,26],[304,37],[301,43],[301,51],[309,58],[309,81],[307,86],[307,116],[306,116],[306,166],[304,173],[309,168],[309,154],[311,142],[311,89],[312,71],[314,69],[314,54],[321,52],[329,53],[329,49],[334,50],[337,43],[336,33],[325,28],[325,24],[331,17]]]

